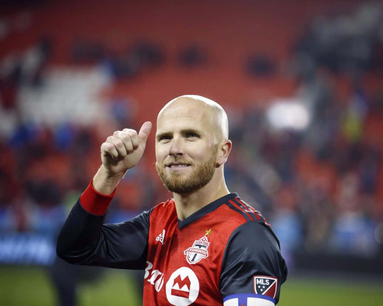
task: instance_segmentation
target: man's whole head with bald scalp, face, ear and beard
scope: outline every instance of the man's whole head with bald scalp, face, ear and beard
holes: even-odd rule
[[[164,186],[187,194],[214,177],[223,180],[228,136],[228,117],[213,100],[186,95],[167,103],[158,114],[155,135],[155,167]]]

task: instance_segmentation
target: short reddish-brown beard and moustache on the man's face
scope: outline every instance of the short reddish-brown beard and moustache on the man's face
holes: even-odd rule
[[[175,159],[174,162],[187,163],[183,160]],[[160,167],[158,163],[155,163],[155,169],[161,178],[165,188],[171,192],[177,194],[185,194],[208,184],[213,178],[216,169],[216,154],[215,150],[211,154],[208,161],[203,164],[199,164],[196,169],[188,176],[183,178],[183,171],[173,171],[170,174],[165,172],[165,167]]]

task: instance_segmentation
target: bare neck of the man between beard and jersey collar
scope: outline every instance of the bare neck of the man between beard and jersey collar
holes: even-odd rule
[[[208,184],[198,190],[186,194],[173,193],[178,219],[183,221],[202,207],[230,193],[223,174],[214,176]]]

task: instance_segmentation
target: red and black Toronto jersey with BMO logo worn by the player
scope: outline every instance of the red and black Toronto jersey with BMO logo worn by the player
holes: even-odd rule
[[[111,196],[92,184],[57,243],[74,264],[145,270],[143,305],[274,305],[287,268],[264,217],[236,193],[183,221],[173,199],[130,221],[103,224]]]

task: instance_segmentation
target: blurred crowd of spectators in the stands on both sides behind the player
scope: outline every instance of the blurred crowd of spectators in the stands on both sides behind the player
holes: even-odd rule
[[[349,16],[318,17],[298,37],[289,69],[297,83],[294,98],[310,113],[303,130],[270,125],[270,101],[254,99],[246,109],[233,101],[227,107],[233,143],[225,166],[229,189],[266,216],[286,254],[325,250],[370,257],[380,251],[375,229],[383,222],[383,86],[370,91],[365,76],[383,68],[381,33],[381,10],[365,6]],[[44,91],[43,71],[52,50],[44,37],[1,64],[2,112],[15,118],[13,124],[0,124],[2,233],[36,232],[54,238],[100,164],[104,135],[95,133],[98,127],[70,120],[36,124],[18,109],[21,88]],[[165,65],[164,50],[150,42],[131,50],[124,57],[106,56],[101,45],[82,41],[72,46],[70,56],[77,63],[100,63],[112,82]],[[207,60],[201,47],[180,50],[180,65]],[[276,73],[267,54],[247,65],[249,78]],[[339,98],[332,80],[341,74],[347,75],[349,90]],[[133,100],[111,104],[116,126],[136,126]],[[167,197],[154,171],[138,167],[121,182],[108,221],[129,219]]]

